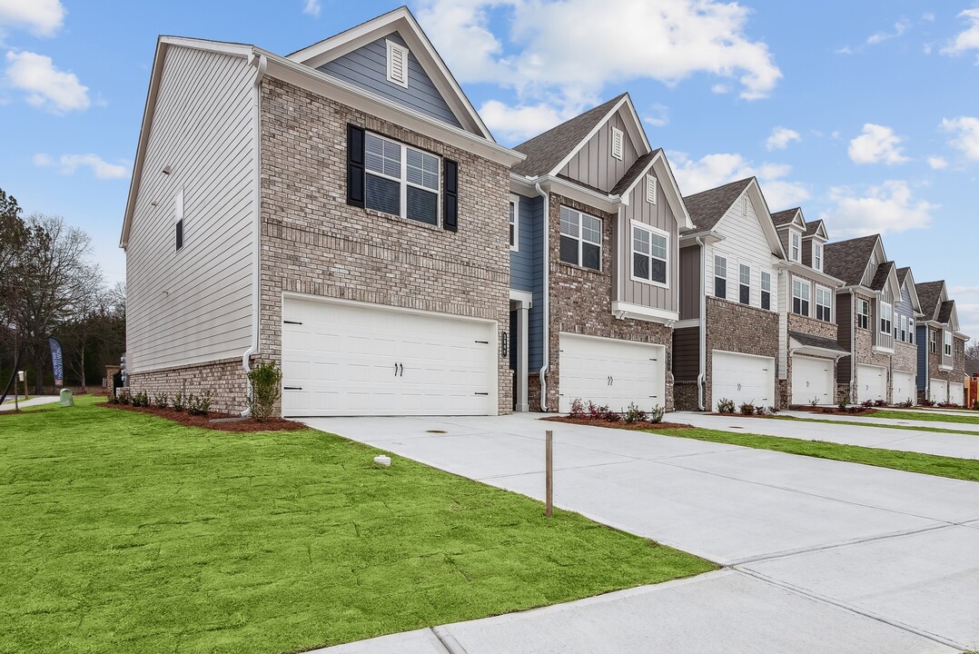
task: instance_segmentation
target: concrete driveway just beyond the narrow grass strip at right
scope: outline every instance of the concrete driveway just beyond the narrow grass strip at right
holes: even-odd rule
[[[792,420],[773,420],[771,418],[742,418],[739,415],[723,416],[714,413],[697,413],[692,411],[677,411],[671,420],[689,423],[695,427],[716,429],[722,432],[738,432],[749,434],[764,434],[780,436],[789,439],[805,441],[827,441],[862,445],[863,447],[879,447],[882,449],[898,449],[907,452],[938,454],[940,456],[955,456],[963,459],[979,459],[979,436],[975,434],[943,434],[941,432],[914,431],[910,429],[886,429],[872,427],[872,424],[885,424],[884,420],[871,417],[855,419],[851,416],[833,416],[805,411],[785,411],[784,415],[804,418],[803,422]],[[866,422],[866,427],[857,425],[832,425],[821,421],[823,418],[832,422],[850,421]],[[961,431],[963,427],[979,432],[979,425],[963,425],[962,423],[944,422],[910,422],[904,420],[887,421],[902,427],[932,427],[937,429],[954,429]]]

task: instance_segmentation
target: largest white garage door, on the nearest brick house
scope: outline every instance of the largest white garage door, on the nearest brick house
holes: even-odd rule
[[[286,298],[286,416],[495,414],[495,323]]]

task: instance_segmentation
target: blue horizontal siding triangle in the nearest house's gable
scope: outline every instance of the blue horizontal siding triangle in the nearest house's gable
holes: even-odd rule
[[[408,87],[404,88],[388,81],[388,44],[385,40],[408,47],[397,32],[392,32],[384,38],[379,38],[324,64],[318,70],[394,100],[426,116],[461,127],[462,124],[445,104],[442,94],[436,89],[414,54],[410,52],[408,54]]]

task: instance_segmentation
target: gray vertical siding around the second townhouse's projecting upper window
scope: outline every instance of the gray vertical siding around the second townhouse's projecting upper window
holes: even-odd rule
[[[622,283],[616,285],[617,289],[622,289],[622,297],[616,298],[616,300],[660,308],[665,311],[678,311],[679,262],[676,257],[678,237],[676,217],[670,208],[670,203],[667,202],[663,184],[656,184],[656,204],[651,205],[646,202],[646,180],[644,178],[640,180],[632,189],[629,205],[624,208],[623,214],[625,216],[624,229],[621,230],[621,233],[616,233],[619,230],[613,230],[615,238],[618,239],[618,247],[614,252],[621,252],[623,257],[626,257],[626,260],[621,261],[620,265],[616,266],[616,271],[620,272],[623,277]],[[666,288],[632,281],[632,220],[655,227],[670,235],[670,243],[667,247],[669,265],[667,266]]]

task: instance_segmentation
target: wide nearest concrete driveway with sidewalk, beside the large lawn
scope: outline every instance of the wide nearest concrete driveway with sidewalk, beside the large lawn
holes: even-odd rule
[[[552,429],[558,505],[727,566],[338,654],[856,654],[979,643],[979,484],[527,415],[306,423],[537,498]]]

